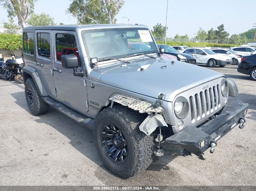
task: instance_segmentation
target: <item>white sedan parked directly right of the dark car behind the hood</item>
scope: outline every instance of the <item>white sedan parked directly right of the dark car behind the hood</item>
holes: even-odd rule
[[[211,68],[215,67],[215,65],[224,67],[225,65],[230,65],[232,63],[230,57],[214,53],[209,49],[189,48],[186,49],[184,53],[193,55],[196,59],[196,63],[206,64]]]

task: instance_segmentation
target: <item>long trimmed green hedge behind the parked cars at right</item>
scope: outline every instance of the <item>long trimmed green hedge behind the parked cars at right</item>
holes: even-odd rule
[[[164,44],[162,41],[156,41],[157,44]],[[166,42],[170,46],[188,46],[188,47],[223,47],[230,48],[240,46],[237,44],[219,44],[219,43],[191,43],[191,42]]]

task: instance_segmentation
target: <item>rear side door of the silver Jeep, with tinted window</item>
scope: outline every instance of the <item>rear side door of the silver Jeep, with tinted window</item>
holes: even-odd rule
[[[56,87],[52,73],[53,54],[52,54],[52,31],[36,30],[36,65],[39,75],[43,81],[49,96],[56,97]]]

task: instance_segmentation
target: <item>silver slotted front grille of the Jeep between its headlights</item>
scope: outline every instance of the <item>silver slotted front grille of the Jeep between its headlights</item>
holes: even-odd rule
[[[211,116],[221,106],[221,92],[219,85],[209,87],[198,94],[189,97],[191,121],[195,123],[201,118]]]

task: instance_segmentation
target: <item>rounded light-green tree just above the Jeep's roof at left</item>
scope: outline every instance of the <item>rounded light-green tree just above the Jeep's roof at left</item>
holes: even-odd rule
[[[55,25],[54,18],[50,17],[50,15],[41,13],[41,14],[32,14],[28,20],[27,24],[29,26],[49,26]]]

